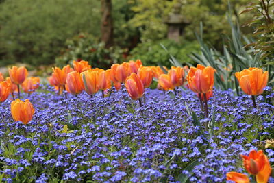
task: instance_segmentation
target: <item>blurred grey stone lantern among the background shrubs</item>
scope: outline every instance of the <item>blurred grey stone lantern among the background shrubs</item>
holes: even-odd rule
[[[179,38],[184,34],[184,28],[190,24],[181,14],[181,3],[176,3],[173,12],[169,14],[165,23],[168,25],[167,38],[179,42]]]

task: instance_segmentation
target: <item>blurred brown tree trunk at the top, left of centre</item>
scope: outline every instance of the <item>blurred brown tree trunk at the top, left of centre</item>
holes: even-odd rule
[[[105,42],[105,48],[113,45],[113,23],[112,23],[111,0],[101,0],[101,41]]]

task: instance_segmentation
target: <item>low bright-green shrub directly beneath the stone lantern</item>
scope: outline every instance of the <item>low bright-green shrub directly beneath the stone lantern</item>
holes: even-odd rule
[[[169,62],[169,53],[164,51],[161,45],[169,51],[169,53],[179,59],[181,64],[193,64],[194,62],[188,55],[192,51],[199,51],[198,42],[184,41],[182,43],[176,43],[173,40],[159,40],[157,42],[145,42],[140,43],[130,53],[131,60],[140,59],[142,64],[147,65],[162,65],[171,66]]]

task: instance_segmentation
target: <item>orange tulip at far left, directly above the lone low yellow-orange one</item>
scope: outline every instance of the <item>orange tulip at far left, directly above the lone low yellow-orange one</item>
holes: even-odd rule
[[[24,66],[17,67],[12,66],[12,69],[9,69],[10,79],[14,84],[22,84],[27,77],[27,69]]]

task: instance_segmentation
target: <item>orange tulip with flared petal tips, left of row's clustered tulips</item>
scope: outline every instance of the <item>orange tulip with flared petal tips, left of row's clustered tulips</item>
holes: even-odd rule
[[[59,67],[55,66],[52,68],[52,70],[52,77],[54,77],[54,80],[58,83],[57,86],[64,86],[66,84],[66,77],[68,73],[73,71],[73,69],[69,65],[64,66],[62,70]]]

